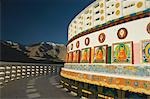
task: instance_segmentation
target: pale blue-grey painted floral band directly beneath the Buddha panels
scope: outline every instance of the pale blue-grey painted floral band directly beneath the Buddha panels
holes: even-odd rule
[[[150,66],[144,65],[105,65],[105,64],[65,64],[65,68],[95,73],[124,75],[134,77],[150,77]]]

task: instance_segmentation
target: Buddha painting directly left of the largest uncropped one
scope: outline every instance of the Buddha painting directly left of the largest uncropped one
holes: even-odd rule
[[[107,46],[98,46],[94,49],[94,62],[105,63],[106,62],[106,49]]]

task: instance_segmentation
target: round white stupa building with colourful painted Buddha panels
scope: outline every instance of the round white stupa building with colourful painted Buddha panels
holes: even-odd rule
[[[101,98],[147,98],[150,0],[96,0],[81,11],[68,27],[61,76],[100,86]]]

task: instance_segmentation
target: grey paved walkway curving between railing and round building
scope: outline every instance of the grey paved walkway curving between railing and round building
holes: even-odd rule
[[[0,88],[0,99],[78,99],[58,80],[58,76],[48,75],[12,81]]]

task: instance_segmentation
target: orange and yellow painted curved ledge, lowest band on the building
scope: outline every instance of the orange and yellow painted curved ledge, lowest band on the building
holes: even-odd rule
[[[150,81],[147,80],[135,78],[121,78],[101,74],[96,75],[95,73],[81,72],[65,68],[62,68],[61,76],[68,79],[94,84],[98,86],[105,86],[108,88],[116,88],[119,90],[150,95]]]

